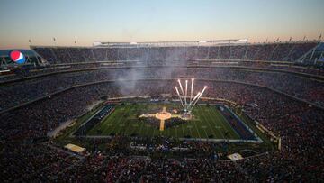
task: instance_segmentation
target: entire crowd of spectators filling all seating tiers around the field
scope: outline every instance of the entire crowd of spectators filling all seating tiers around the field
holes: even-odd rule
[[[145,67],[98,69],[101,64],[86,65],[90,66],[89,68],[75,65],[70,67],[91,70],[1,85],[0,111],[40,97],[44,98],[1,114],[0,180],[2,182],[323,181],[324,166],[320,163],[324,161],[323,110],[265,88],[273,88],[323,106],[324,90],[321,80],[302,78],[284,72],[237,68],[186,68],[183,66],[186,66],[187,62],[182,61],[243,57],[253,60],[291,61],[315,45],[316,42],[174,49],[35,48],[51,63],[141,59]],[[152,62],[145,62],[147,60]],[[161,60],[177,60],[178,67],[167,67],[171,64]],[[249,62],[246,64],[249,66]],[[257,67],[268,66],[260,63]],[[71,68],[67,67],[67,70]],[[43,70],[40,73],[47,71]],[[129,137],[115,135],[110,140],[94,140],[87,149],[91,152],[90,155],[80,156],[62,150],[47,141],[49,132],[85,114],[88,106],[95,104],[103,96],[161,94],[176,96],[174,78],[196,78],[195,88],[208,86],[204,96],[227,99],[243,106],[245,114],[281,138],[281,150],[268,151],[232,162],[224,160],[228,153],[232,153],[227,151],[226,143],[178,142],[168,137],[157,137],[136,140],[132,144],[145,147],[144,150],[136,150],[130,149],[130,142],[133,140]],[[68,89],[103,80],[115,82]],[[63,91],[64,89],[67,91]],[[63,92],[52,95],[58,91]],[[99,152],[97,146],[100,144],[104,144],[107,151]],[[165,157],[164,153],[170,153],[175,158]]]

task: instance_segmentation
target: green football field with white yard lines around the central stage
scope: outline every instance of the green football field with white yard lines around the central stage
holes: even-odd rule
[[[141,137],[152,137],[164,135],[168,137],[184,138],[213,138],[213,139],[239,139],[238,133],[230,126],[227,120],[220,114],[219,109],[214,106],[196,105],[193,109],[193,119],[185,124],[179,124],[159,131],[157,127],[142,122],[138,114],[152,110],[166,111],[179,108],[176,104],[126,104],[116,105],[112,114],[103,118],[103,121],[96,124],[88,135],[136,135]],[[169,109],[169,110],[168,110]]]

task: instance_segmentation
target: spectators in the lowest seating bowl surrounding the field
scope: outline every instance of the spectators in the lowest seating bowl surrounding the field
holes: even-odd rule
[[[187,181],[209,181],[214,179],[232,181],[237,178],[242,179],[242,181],[250,181],[251,179],[260,181],[322,180],[323,165],[319,162],[323,161],[324,157],[322,151],[324,114],[321,109],[295,101],[291,97],[283,96],[262,87],[211,81],[199,82],[196,87],[204,85],[209,86],[208,90],[206,90],[206,96],[225,98],[238,105],[246,106],[244,110],[247,115],[282,138],[282,150],[271,151],[265,156],[258,156],[256,159],[251,158],[236,163],[230,161],[220,163],[214,162],[213,158],[211,158],[213,157],[212,154],[217,150],[214,145],[208,142],[190,142],[180,145],[181,148],[190,149],[185,153],[180,153],[180,157],[191,156],[190,158],[193,160],[166,159],[160,164],[161,160],[133,160],[129,157],[132,153],[135,153],[135,155],[145,154],[150,158],[149,154],[155,153],[158,150],[157,148],[153,148],[155,151],[148,148],[150,152],[141,152],[139,154],[127,148],[127,144],[129,144],[127,140],[123,142],[123,140],[119,139],[116,141],[119,144],[116,146],[117,148],[113,146],[109,151],[103,152],[103,154],[106,153],[108,158],[92,155],[81,163],[77,163],[71,169],[65,169],[69,167],[68,162],[70,160],[67,160],[67,163],[60,163],[59,166],[53,165],[53,171],[55,172],[65,169],[64,174],[58,174],[58,180],[74,181],[76,179],[86,181],[101,179],[105,181],[111,179],[114,181],[118,179],[128,182],[135,181],[135,179],[154,181],[157,178],[164,179],[166,182],[176,182],[184,179]],[[24,174],[30,172],[41,175],[35,177],[35,179],[57,178],[50,173],[51,170],[49,169],[40,170],[42,168],[41,163],[38,160],[33,160],[35,151],[46,151],[50,157],[51,150],[44,150],[40,147],[35,147],[35,150],[34,148],[24,149],[23,146],[14,146],[14,144],[37,142],[38,139],[46,137],[47,133],[58,127],[59,124],[85,114],[86,106],[100,100],[103,95],[158,96],[158,94],[171,93],[172,96],[175,96],[172,87],[175,86],[175,81],[137,81],[136,86],[136,90],[127,90],[125,92],[121,92],[123,85],[114,83],[77,87],[32,105],[23,106],[2,114],[0,137],[1,147],[4,148],[1,150],[1,157],[2,162],[3,160],[7,161],[7,163],[1,163],[4,167],[7,167],[2,169],[1,173],[5,175],[3,178],[6,180],[24,178]],[[166,141],[169,140],[163,141],[163,144]],[[160,147],[160,143],[161,141],[154,140],[148,144],[149,146],[155,144],[154,147]],[[59,152],[54,151],[53,153],[54,158],[58,156],[58,159],[66,160],[65,155],[61,157]],[[113,156],[121,159],[121,163],[112,165],[110,159]],[[23,162],[22,157],[29,161]],[[201,158],[203,159],[200,160]],[[44,163],[51,160],[50,158],[45,159],[47,160],[44,160]],[[14,160],[17,160],[17,163],[9,165],[9,162]],[[54,161],[57,161],[57,158]],[[28,166],[22,166],[19,162],[23,162]],[[122,162],[125,164],[124,167]],[[155,162],[157,164],[152,165]],[[148,165],[147,169],[143,169],[144,165]],[[158,167],[161,174],[151,175],[149,173],[152,172],[149,167],[154,166]],[[107,169],[111,170],[108,171]],[[38,174],[39,171],[42,174]],[[115,172],[121,172],[121,174]],[[260,173],[255,175],[254,172]],[[135,174],[136,176],[134,176]],[[119,176],[116,177],[117,175]]]

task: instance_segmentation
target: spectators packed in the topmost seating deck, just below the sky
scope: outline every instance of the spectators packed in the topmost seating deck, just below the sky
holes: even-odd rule
[[[14,73],[0,77],[0,81],[26,78],[71,69],[93,69],[116,66],[201,65],[237,66],[292,70],[322,75],[322,69],[300,67],[295,62],[319,42],[275,42],[251,45],[151,47],[151,48],[95,48],[95,47],[35,47],[49,65],[34,69],[14,69]],[[213,60],[217,59],[218,62]],[[203,61],[202,61],[203,60]],[[266,61],[290,61],[277,64]],[[105,63],[103,63],[105,62]],[[186,63],[188,62],[188,63]],[[293,64],[294,63],[294,64]]]

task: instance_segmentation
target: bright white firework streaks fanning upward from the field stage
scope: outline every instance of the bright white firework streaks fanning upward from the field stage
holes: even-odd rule
[[[192,110],[193,110],[193,106],[197,104],[197,102],[199,101],[199,99],[201,98],[203,92],[206,90],[207,86],[204,86],[202,88],[202,91],[198,92],[194,97],[193,97],[193,86],[194,86],[194,78],[191,79],[191,90],[190,90],[190,96],[188,96],[189,92],[188,92],[188,80],[185,80],[185,91],[184,88],[182,86],[181,80],[178,79],[177,80],[179,87],[181,89],[181,93],[179,92],[178,87],[175,87],[175,91],[177,96],[180,99],[181,105],[184,107],[184,113],[188,113],[191,114]]]

